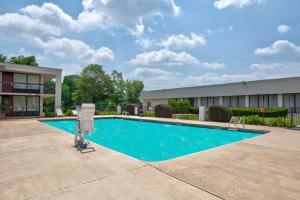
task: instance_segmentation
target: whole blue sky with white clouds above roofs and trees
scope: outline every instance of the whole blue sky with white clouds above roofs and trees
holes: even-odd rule
[[[0,53],[145,89],[300,75],[299,0],[1,0]]]

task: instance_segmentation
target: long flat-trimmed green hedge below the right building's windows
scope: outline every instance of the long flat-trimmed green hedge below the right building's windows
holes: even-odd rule
[[[288,115],[287,108],[265,108],[265,112],[261,113],[260,108],[229,108],[234,116],[252,116],[260,117],[286,117]]]

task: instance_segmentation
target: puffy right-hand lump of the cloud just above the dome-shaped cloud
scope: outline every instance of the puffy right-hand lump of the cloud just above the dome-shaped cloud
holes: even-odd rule
[[[195,48],[197,46],[205,44],[206,40],[204,39],[204,37],[195,33],[191,33],[190,37],[183,34],[172,35],[166,40],[162,41],[162,46],[174,49]]]

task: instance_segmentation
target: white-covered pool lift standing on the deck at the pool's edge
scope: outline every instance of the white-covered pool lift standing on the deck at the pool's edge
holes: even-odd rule
[[[85,133],[92,134],[94,130],[95,104],[82,104],[77,108],[77,122],[74,145],[79,149],[87,148],[89,144],[85,138]]]

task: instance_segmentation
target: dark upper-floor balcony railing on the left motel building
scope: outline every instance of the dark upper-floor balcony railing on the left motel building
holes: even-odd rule
[[[55,88],[47,88],[44,84],[19,83],[0,81],[0,92],[7,93],[32,93],[32,94],[55,94]]]

